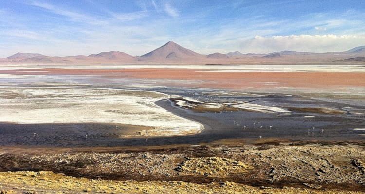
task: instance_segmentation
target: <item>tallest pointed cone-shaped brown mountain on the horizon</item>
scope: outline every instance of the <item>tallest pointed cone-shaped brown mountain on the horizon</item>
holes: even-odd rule
[[[186,49],[175,42],[169,41],[164,46],[157,48],[145,55],[138,57],[139,61],[175,61],[184,62],[185,60],[199,60],[205,56]]]

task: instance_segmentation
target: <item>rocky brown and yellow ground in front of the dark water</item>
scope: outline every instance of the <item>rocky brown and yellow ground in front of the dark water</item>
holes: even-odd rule
[[[240,145],[235,142],[234,145],[95,148],[93,151],[2,148],[0,187],[2,193],[365,191],[363,144]]]

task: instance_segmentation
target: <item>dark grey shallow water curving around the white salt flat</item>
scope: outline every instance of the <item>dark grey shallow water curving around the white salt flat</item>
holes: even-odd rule
[[[158,90],[173,96],[195,98],[206,101],[203,94],[221,93],[205,89],[173,89]],[[224,91],[223,91],[224,93]],[[199,144],[221,139],[237,139],[252,143],[262,139],[289,139],[303,141],[363,141],[362,130],[365,126],[364,106],[354,106],[331,100],[310,99],[300,95],[257,94],[234,96],[210,96],[209,101],[234,102],[251,101],[252,103],[287,107],[346,107],[345,114],[330,115],[311,112],[260,113],[250,111],[194,112],[169,100],[161,100],[156,104],[164,109],[187,119],[204,124],[205,129],[195,135],[172,137],[120,138],[122,128],[116,130],[113,124],[72,123],[72,124],[0,124],[0,145],[32,145],[55,147],[84,146],[152,146],[169,144]],[[356,109],[356,113],[351,113]],[[359,114],[362,113],[362,114]],[[309,117],[308,117],[309,116]],[[314,116],[314,117],[312,117]],[[255,123],[255,124],[254,124]],[[272,126],[270,128],[270,126]],[[122,131],[121,131],[122,130]],[[130,130],[130,129],[129,129]],[[126,133],[126,131],[123,131]],[[36,133],[36,134],[34,134]],[[88,136],[85,136],[88,135]]]

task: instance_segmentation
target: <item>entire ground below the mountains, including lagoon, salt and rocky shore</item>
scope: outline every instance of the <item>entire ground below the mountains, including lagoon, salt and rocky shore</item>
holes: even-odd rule
[[[274,60],[2,64],[2,193],[363,193],[363,62]]]

